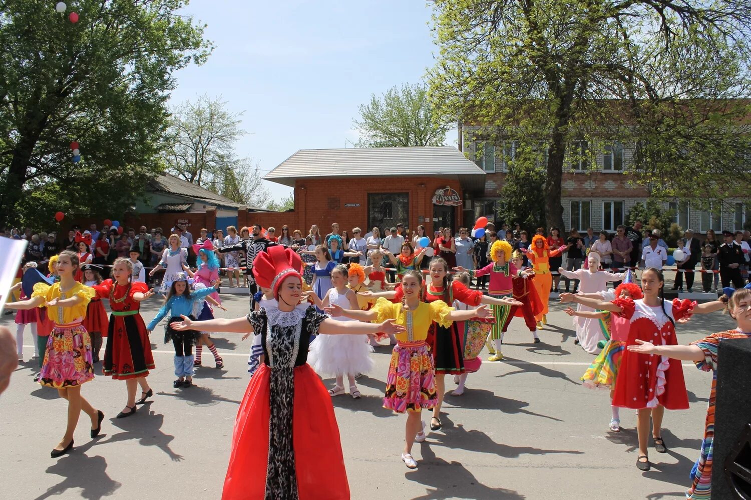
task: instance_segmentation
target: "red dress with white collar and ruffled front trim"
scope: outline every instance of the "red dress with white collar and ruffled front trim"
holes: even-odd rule
[[[613,301],[621,308],[613,313],[629,320],[629,338],[626,346],[644,340],[656,346],[675,346],[678,341],[675,325],[679,319],[691,315],[696,302],[675,299],[662,306],[650,307],[644,299],[632,301],[617,298]],[[671,321],[672,320],[672,321]],[[623,358],[615,385],[613,406],[632,409],[664,406],[668,410],[684,410],[689,407],[683,367],[680,360],[660,355],[647,355],[623,351]]]

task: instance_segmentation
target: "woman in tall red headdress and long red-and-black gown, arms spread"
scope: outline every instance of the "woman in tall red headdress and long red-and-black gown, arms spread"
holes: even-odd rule
[[[310,336],[396,334],[404,327],[338,322],[303,297],[300,256],[269,247],[255,257],[258,286],[271,289],[269,305],[236,319],[171,323],[176,331],[253,332],[261,335],[264,364],[250,379],[237,412],[223,500],[345,500],[350,498],[331,397],[306,363]],[[363,340],[364,342],[364,340]]]

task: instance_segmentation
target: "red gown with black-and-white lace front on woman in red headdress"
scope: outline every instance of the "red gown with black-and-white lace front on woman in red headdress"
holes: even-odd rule
[[[331,397],[306,363],[326,317],[307,305],[247,316],[264,364],[237,412],[222,500],[350,498]]]

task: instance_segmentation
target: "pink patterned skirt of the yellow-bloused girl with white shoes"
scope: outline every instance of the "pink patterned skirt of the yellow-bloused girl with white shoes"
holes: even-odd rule
[[[436,371],[426,343],[394,346],[383,407],[397,413],[431,409],[438,403]]]

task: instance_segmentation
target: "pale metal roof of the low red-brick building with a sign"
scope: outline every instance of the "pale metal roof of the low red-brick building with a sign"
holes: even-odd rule
[[[465,189],[485,185],[485,172],[451,146],[300,149],[264,179],[294,187],[300,178],[412,175],[458,179]]]

